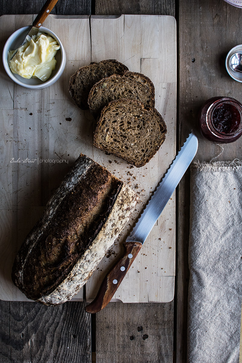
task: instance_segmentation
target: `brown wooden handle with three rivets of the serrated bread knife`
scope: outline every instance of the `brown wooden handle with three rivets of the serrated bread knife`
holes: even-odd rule
[[[123,256],[104,277],[95,299],[85,307],[87,313],[95,314],[107,306],[142,247],[140,242],[124,242],[123,245]]]

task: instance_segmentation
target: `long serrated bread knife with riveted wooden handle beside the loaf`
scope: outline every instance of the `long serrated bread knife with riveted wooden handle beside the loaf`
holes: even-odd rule
[[[124,242],[123,257],[104,277],[95,299],[85,307],[88,313],[97,313],[110,302],[128,269],[141,249],[179,181],[196,155],[198,140],[191,132],[181,150],[167,169],[155,192],[144,207],[138,221]]]

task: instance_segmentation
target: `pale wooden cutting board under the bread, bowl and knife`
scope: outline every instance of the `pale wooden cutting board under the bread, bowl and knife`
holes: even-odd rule
[[[1,16],[1,49],[16,29],[32,21],[33,15]],[[1,67],[0,298],[28,300],[12,284],[13,260],[63,176],[83,153],[124,180],[140,198],[130,223],[86,284],[86,298],[91,301],[176,154],[176,22],[171,16],[154,15],[50,15],[44,25],[58,34],[66,50],[64,74],[53,86],[28,90],[13,83]],[[163,115],[168,132],[160,150],[142,168],[94,148],[94,119],[70,98],[70,76],[79,67],[104,59],[117,59],[154,83],[155,107]],[[27,158],[34,161],[26,162]],[[174,296],[174,282],[175,193],[113,301],[168,302]],[[81,290],[73,300],[82,299]]]

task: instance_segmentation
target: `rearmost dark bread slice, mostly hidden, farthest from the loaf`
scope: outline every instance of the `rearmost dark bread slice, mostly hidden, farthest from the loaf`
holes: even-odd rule
[[[123,74],[128,68],[114,60],[108,59],[97,62],[91,62],[90,65],[81,67],[71,76],[69,82],[69,92],[73,101],[82,110],[88,109],[88,95],[95,83],[100,79],[111,76],[111,74]]]

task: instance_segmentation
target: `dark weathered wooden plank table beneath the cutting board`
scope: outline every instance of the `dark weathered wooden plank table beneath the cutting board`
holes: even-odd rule
[[[4,1],[3,14],[37,13],[44,1]],[[203,101],[227,95],[242,101],[241,84],[225,70],[227,52],[241,44],[241,9],[224,1],[59,1],[53,13],[66,15],[172,15],[177,20],[177,148],[196,129]],[[1,44],[1,48],[3,45]],[[242,138],[224,147],[217,160],[242,158]],[[221,148],[199,136],[196,158],[210,161]],[[175,299],[169,303],[110,303],[96,316],[85,302],[46,307],[0,301],[0,363],[185,363],[189,237],[189,171],[177,193]],[[93,354],[91,354],[93,352]]]

